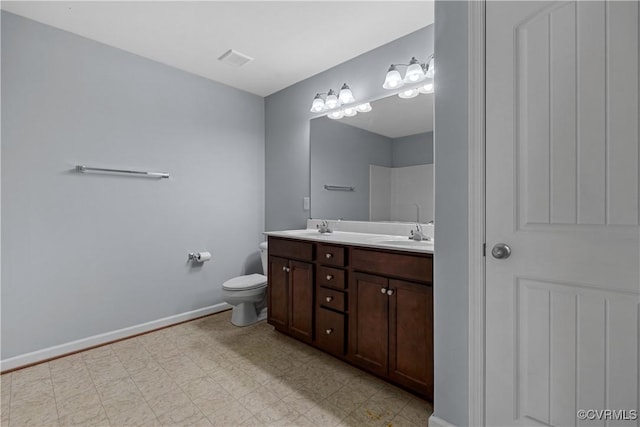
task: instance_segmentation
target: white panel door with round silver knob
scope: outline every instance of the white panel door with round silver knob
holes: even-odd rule
[[[638,2],[486,6],[485,422],[638,426]]]

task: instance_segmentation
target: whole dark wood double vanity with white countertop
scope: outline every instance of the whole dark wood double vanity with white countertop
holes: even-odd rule
[[[315,228],[268,236],[268,322],[433,400],[433,241]]]

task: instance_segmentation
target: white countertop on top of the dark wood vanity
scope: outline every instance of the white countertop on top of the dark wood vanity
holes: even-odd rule
[[[266,236],[287,237],[291,239],[310,240],[313,242],[339,243],[343,245],[363,246],[376,249],[393,249],[405,252],[419,252],[432,254],[433,240],[415,241],[407,236],[385,234],[354,233],[348,231],[334,231],[321,234],[315,229],[266,231]]]

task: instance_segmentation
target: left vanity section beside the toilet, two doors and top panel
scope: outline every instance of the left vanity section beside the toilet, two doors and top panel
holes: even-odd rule
[[[269,239],[267,321],[306,342],[314,330],[313,253],[311,243]]]

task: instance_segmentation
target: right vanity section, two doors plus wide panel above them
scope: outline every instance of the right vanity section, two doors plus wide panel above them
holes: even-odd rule
[[[348,358],[433,399],[432,257],[352,250]]]

